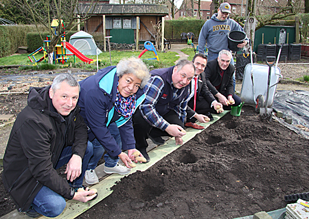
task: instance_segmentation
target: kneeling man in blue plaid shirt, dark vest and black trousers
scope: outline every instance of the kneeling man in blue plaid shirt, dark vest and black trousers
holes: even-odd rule
[[[176,66],[152,70],[144,88],[146,99],[133,115],[136,149],[150,162],[146,152],[147,138],[155,144],[164,144],[161,136],[174,136],[176,144],[183,144],[184,120],[187,113],[189,86],[195,67],[189,60],[180,60]]]

